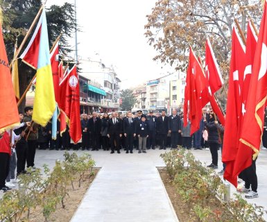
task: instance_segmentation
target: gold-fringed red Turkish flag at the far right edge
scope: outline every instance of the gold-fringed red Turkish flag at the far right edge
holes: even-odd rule
[[[264,127],[264,108],[267,96],[267,17],[266,2],[264,15],[259,29],[259,40],[255,51],[255,59],[252,67],[248,102],[243,120],[240,141],[246,145],[246,155],[243,155],[243,167],[251,164],[259,154],[261,135]]]

